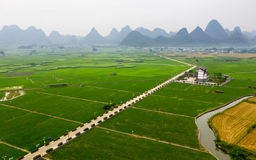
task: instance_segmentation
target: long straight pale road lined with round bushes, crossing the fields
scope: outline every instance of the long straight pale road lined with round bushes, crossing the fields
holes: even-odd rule
[[[161,57],[162,57],[162,56],[161,56]],[[167,59],[169,59],[169,58],[167,58]],[[172,59],[170,59],[170,60],[172,60]],[[177,60],[174,60],[174,61],[177,61]],[[179,61],[178,61],[178,62],[179,62]],[[181,62],[181,63],[184,63],[184,62]],[[184,63],[184,64],[187,64],[187,63]],[[187,65],[190,65],[190,64],[187,64]],[[185,72],[188,72],[190,69],[196,68],[196,66],[193,66],[193,65],[190,65],[190,66],[192,66],[192,68],[189,68],[188,70],[186,70],[186,71],[180,73],[179,75],[177,75],[177,76],[175,76],[175,77],[172,77],[171,79],[166,80],[165,82],[163,82],[163,83],[161,83],[161,84],[158,84],[156,87],[152,88],[152,91],[153,91],[153,90],[157,91],[157,90],[158,90],[157,88],[160,88],[160,86],[162,86],[162,85],[165,86],[165,85],[167,85],[168,83],[170,83],[172,80],[174,80],[174,79],[176,79],[176,78],[182,76]],[[148,90],[148,93],[151,94],[151,90]],[[152,93],[153,93],[153,92],[152,92]],[[48,94],[48,93],[47,93],[47,94]],[[29,153],[29,154],[26,155],[23,159],[24,159],[24,160],[31,160],[31,159],[33,159],[33,157],[36,156],[36,155],[39,155],[39,154],[40,154],[41,156],[43,156],[44,154],[46,154],[45,151],[46,151],[47,149],[49,149],[49,148],[53,148],[53,150],[59,148],[57,145],[58,145],[60,142],[62,142],[63,144],[68,143],[69,141],[71,141],[71,140],[73,140],[74,138],[76,138],[76,137],[79,136],[79,135],[78,135],[78,136],[75,135],[77,132],[80,132],[81,134],[83,134],[85,128],[89,128],[89,130],[90,130],[90,129],[92,129],[93,127],[96,127],[98,124],[100,124],[100,123],[102,123],[102,122],[108,120],[108,119],[110,118],[110,117],[109,117],[110,114],[112,114],[113,116],[115,116],[116,114],[118,114],[118,113],[124,111],[125,109],[129,108],[129,107],[128,107],[128,104],[137,103],[136,100],[138,100],[138,101],[143,100],[143,99],[144,99],[144,98],[142,98],[143,96],[144,96],[144,98],[146,98],[146,97],[148,96],[148,94],[144,94],[144,93],[143,93],[143,94],[141,94],[140,96],[137,96],[137,97],[133,98],[133,100],[127,101],[126,103],[123,104],[123,106],[127,106],[127,107],[124,108],[123,110],[119,111],[119,109],[121,109],[121,108],[123,108],[123,107],[122,107],[122,106],[118,106],[118,107],[115,108],[114,110],[109,111],[109,112],[106,113],[106,114],[103,114],[103,116],[97,117],[96,120],[92,120],[91,123],[89,123],[89,124],[86,123],[86,124],[84,124],[84,126],[78,127],[76,131],[69,132],[69,135],[61,136],[60,139],[58,139],[58,140],[56,140],[56,141],[52,141],[52,142],[51,142],[49,145],[47,145],[47,146],[43,146],[43,147],[39,148],[38,151],[36,151],[36,152],[34,152],[34,153],[32,153],[32,154]],[[63,96],[63,97],[65,97],[65,96]],[[115,113],[116,111],[117,111],[117,113]],[[104,119],[103,119],[104,117],[107,117],[107,119],[104,120]],[[112,116],[111,116],[111,117],[112,117]],[[102,122],[98,123],[99,121],[102,121]],[[91,127],[92,124],[95,124],[95,126],[92,126],[92,127]],[[89,131],[89,130],[87,130],[87,131]],[[85,132],[87,132],[87,131],[85,131]],[[80,134],[80,135],[81,135],[81,134]],[[69,141],[66,141],[66,140],[68,139],[68,137],[72,137],[72,139],[69,140]],[[152,139],[152,140],[153,140],[153,139]],[[177,146],[180,146],[180,145],[177,145]],[[195,150],[196,150],[196,149],[195,149]]]

